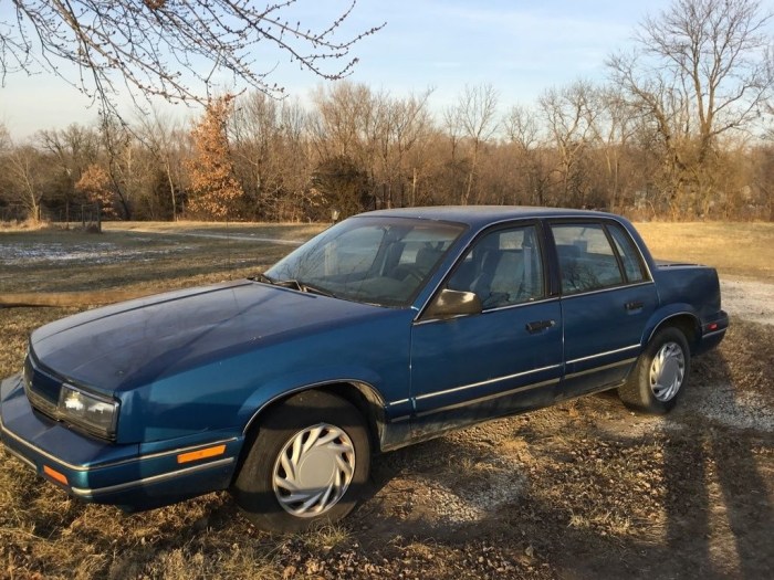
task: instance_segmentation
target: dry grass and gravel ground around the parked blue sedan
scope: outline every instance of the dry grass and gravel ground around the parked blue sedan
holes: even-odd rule
[[[0,455],[0,577],[772,578],[774,285],[762,278],[722,276],[731,329],[694,359],[668,416],[604,393],[388,453],[358,509],[315,532],[258,532],[224,493],[125,516]],[[0,309],[0,375],[31,328],[70,312]]]

